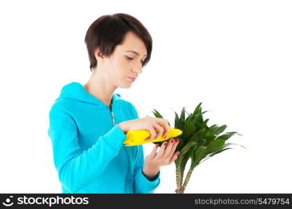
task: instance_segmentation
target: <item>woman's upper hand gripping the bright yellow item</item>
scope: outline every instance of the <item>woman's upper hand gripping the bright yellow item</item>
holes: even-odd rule
[[[145,141],[158,139],[162,133],[163,138],[165,138],[168,135],[170,129],[170,126],[168,125],[168,121],[166,119],[149,116],[145,118],[124,121],[122,123],[119,123],[118,126],[125,134],[126,132],[129,132],[131,130],[148,130],[151,136],[145,139]]]

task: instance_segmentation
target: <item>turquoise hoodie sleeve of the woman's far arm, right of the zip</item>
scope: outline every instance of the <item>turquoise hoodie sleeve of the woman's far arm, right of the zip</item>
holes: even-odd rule
[[[135,118],[139,118],[136,108],[133,106]],[[154,189],[160,184],[160,171],[154,178],[149,179],[143,173],[144,167],[144,152],[143,145],[138,146],[138,159],[134,166],[134,187],[133,193],[149,193],[152,194]]]

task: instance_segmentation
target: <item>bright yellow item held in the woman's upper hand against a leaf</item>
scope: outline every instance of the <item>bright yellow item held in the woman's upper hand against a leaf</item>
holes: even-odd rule
[[[124,141],[124,146],[136,146],[136,145],[146,144],[146,143],[150,143],[150,142],[166,141],[166,140],[171,139],[173,137],[177,137],[180,134],[182,134],[182,130],[170,127],[166,138],[163,138],[162,134],[161,134],[158,137],[158,139],[153,139],[151,141],[145,141],[145,139],[147,139],[148,137],[151,136],[151,134],[148,130],[131,130],[131,131],[126,133],[126,140]]]

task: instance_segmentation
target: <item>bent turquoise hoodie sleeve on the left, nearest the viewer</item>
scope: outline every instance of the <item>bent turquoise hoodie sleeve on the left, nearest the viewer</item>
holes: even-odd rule
[[[116,124],[88,150],[80,150],[78,128],[64,107],[52,107],[48,134],[61,184],[76,193],[100,175],[119,153],[126,134]]]

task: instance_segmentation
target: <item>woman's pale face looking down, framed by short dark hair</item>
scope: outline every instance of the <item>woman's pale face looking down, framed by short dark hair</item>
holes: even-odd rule
[[[122,45],[117,45],[110,57],[101,57],[99,54],[96,56],[97,71],[100,71],[103,79],[116,88],[129,88],[133,83],[129,77],[137,79],[142,72],[142,63],[146,56],[147,49],[143,40],[129,31]]]

